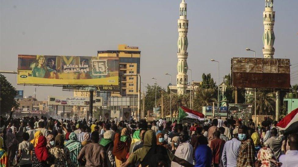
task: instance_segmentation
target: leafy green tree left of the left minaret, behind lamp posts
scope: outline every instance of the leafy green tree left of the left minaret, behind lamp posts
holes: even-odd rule
[[[147,85],[146,86],[146,96],[145,96],[145,115],[147,114],[148,110],[153,110],[153,107],[155,107],[155,84],[154,85]],[[161,91],[165,91],[162,89],[161,86],[157,85],[157,91],[156,91],[156,100],[158,100],[162,94]]]

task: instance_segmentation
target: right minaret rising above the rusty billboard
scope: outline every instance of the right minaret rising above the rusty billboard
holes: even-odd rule
[[[263,24],[264,24],[264,33],[263,33],[263,55],[264,58],[273,58],[274,55],[274,20],[275,12],[273,11],[273,0],[265,0],[265,11],[263,12]]]

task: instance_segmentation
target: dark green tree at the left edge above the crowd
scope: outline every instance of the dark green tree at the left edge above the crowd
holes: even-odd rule
[[[0,108],[1,113],[8,113],[13,107],[18,108],[19,104],[14,99],[18,92],[16,89],[7,81],[6,77],[0,74]]]

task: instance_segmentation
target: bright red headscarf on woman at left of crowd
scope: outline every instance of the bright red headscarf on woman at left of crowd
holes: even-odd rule
[[[38,137],[38,143],[34,150],[38,161],[45,161],[49,157],[49,151],[46,148],[47,140],[44,136]]]

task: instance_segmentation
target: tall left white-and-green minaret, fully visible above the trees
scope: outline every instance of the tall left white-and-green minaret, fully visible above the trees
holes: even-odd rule
[[[177,63],[177,93],[183,95],[187,89],[187,31],[188,31],[188,20],[186,19],[187,3],[182,0],[180,3],[180,17],[178,19],[178,63]]]

